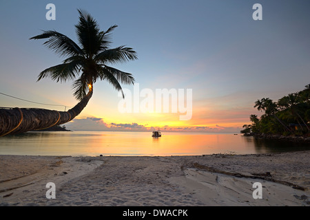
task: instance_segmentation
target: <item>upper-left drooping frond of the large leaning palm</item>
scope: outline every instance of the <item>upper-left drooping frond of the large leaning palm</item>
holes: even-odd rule
[[[49,39],[48,41],[45,41],[43,45],[47,46],[60,56],[74,56],[83,54],[83,51],[79,45],[74,43],[74,41],[72,41],[68,36],[65,36],[59,32],[52,30],[44,31],[43,34],[39,34],[30,38],[30,40],[39,39]]]

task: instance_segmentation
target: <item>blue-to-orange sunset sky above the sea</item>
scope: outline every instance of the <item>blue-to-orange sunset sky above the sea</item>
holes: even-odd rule
[[[54,3],[56,20],[45,6]],[[252,9],[262,5],[262,21]],[[32,102],[73,107],[72,82],[39,73],[64,58],[30,41],[56,30],[77,42],[77,9],[92,14],[101,30],[118,25],[111,47],[126,45],[137,61],[112,65],[134,75],[139,91],[192,89],[192,118],[185,113],[121,113],[122,98],[107,82],[94,84],[82,113],[65,124],[72,130],[205,131],[239,133],[260,98],[277,101],[310,83],[310,1],[307,0],[105,0],[0,1],[0,93]],[[134,86],[123,85],[134,94]],[[180,94],[178,94],[180,95]],[[139,96],[139,94],[138,94]],[[143,97],[140,98],[140,101]],[[124,100],[123,100],[124,101]],[[24,102],[0,94],[0,107],[65,107]],[[134,106],[132,106],[134,110]]]

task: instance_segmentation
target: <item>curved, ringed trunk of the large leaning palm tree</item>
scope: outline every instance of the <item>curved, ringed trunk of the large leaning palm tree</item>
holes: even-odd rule
[[[85,108],[92,98],[92,89],[86,96],[68,111],[48,109],[0,109],[0,137],[27,131],[48,129],[51,126],[65,124],[74,119]]]

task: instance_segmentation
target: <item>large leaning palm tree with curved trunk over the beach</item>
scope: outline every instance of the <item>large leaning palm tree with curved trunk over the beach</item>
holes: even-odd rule
[[[48,109],[0,109],[0,136],[45,129],[69,122],[79,115],[92,97],[94,83],[107,80],[123,94],[120,83],[134,84],[130,73],[122,72],[108,65],[137,59],[136,52],[125,46],[110,49],[110,34],[117,27],[101,31],[90,14],[79,12],[79,23],[75,25],[79,45],[68,36],[56,31],[44,31],[30,39],[48,39],[43,45],[56,54],[65,56],[62,64],[43,70],[38,81],[50,77],[56,82],[74,80],[72,88],[79,103],[68,111]],[[123,94],[124,97],[124,94]]]

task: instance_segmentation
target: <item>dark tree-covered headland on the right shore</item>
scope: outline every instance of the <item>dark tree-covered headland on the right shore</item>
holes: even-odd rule
[[[245,135],[296,135],[310,137],[310,84],[302,91],[283,96],[278,102],[270,98],[257,100],[254,108],[264,114],[250,115],[252,124],[243,125]]]

